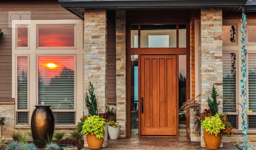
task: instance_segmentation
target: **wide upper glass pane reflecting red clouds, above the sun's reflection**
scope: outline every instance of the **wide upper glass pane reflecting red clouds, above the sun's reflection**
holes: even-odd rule
[[[39,47],[74,47],[75,26],[39,26]]]

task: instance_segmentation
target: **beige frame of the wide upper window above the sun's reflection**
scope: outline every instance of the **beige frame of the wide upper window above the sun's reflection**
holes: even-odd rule
[[[74,46],[64,46],[64,47],[40,47],[39,46],[39,27],[40,26],[73,26],[74,27]],[[37,24],[36,25],[36,49],[76,49],[76,24]]]

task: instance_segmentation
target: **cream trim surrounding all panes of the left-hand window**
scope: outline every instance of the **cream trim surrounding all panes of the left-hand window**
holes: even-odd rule
[[[28,20],[12,20],[12,35],[16,35],[17,28],[16,26],[29,26],[29,35],[28,39],[28,48],[27,49],[17,49],[16,39],[17,36],[12,36],[12,98],[15,98],[15,107],[17,104],[16,98],[16,55],[29,55],[29,76],[30,80],[29,87],[29,120],[31,119],[32,112],[36,108],[35,105],[38,104],[37,102],[37,56],[38,55],[75,55],[76,56],[76,74],[75,74],[75,124],[79,121],[80,117],[83,116],[84,110],[84,68],[83,68],[83,24],[84,22],[79,19],[74,20],[29,20],[30,24],[23,24],[22,22],[28,22]],[[44,49],[37,48],[37,27],[38,25],[75,25],[75,47],[58,47],[58,48],[51,48],[51,47],[44,47]],[[77,40],[76,40],[77,39]],[[83,82],[82,82],[83,81]],[[33,101],[32,101],[33,100]],[[15,108],[15,116],[16,115],[16,108]],[[15,126],[17,119],[15,118]],[[29,122],[30,125],[30,122]],[[22,125],[23,126],[23,125]],[[27,125],[28,126],[28,125]],[[64,124],[55,124],[55,126],[76,126],[76,125],[64,125]]]

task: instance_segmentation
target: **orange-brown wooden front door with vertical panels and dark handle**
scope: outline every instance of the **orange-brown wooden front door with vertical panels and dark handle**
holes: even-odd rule
[[[141,135],[177,135],[176,55],[141,55]]]

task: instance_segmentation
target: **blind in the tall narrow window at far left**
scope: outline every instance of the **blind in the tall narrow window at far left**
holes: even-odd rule
[[[17,109],[27,110],[28,98],[28,58],[27,56],[17,57]]]

